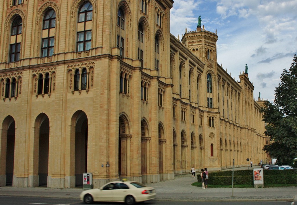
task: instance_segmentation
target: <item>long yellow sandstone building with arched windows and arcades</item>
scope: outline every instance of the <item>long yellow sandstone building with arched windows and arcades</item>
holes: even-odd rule
[[[0,186],[94,187],[269,160],[254,86],[172,0],[0,1]],[[238,65],[241,70],[242,65]]]

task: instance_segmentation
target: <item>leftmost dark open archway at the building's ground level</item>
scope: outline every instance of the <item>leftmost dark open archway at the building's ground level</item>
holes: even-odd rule
[[[3,120],[0,138],[0,186],[12,185],[15,153],[15,120]],[[4,166],[3,166],[4,165]]]

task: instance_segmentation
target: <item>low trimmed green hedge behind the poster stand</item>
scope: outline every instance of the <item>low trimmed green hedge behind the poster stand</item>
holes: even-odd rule
[[[263,170],[264,185],[266,184],[296,184],[297,170]],[[201,182],[200,174],[197,175],[198,182]],[[234,185],[253,185],[253,170],[234,171]],[[232,185],[232,171],[210,172],[208,184],[211,185]]]

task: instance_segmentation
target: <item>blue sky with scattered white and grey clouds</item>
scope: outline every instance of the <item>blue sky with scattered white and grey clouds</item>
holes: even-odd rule
[[[201,27],[217,30],[217,61],[235,80],[249,66],[254,99],[274,101],[283,69],[297,53],[297,0],[175,0],[170,32],[180,36]]]

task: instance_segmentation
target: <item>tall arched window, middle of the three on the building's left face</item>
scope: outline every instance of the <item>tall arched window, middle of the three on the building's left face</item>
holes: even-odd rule
[[[51,56],[54,53],[55,27],[56,12],[50,9],[43,18],[41,57]]]

